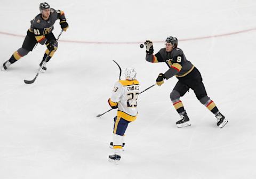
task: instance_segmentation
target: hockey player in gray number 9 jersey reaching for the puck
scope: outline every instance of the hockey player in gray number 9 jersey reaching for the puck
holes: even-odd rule
[[[186,59],[183,51],[178,48],[178,39],[176,37],[167,37],[165,40],[165,48],[161,48],[155,55],[153,43],[150,40],[146,40],[146,60],[151,63],[165,62],[169,67],[164,74],[159,74],[156,79],[156,84],[161,86],[164,83],[164,79],[169,79],[176,76],[179,80],[173,91],[170,94],[171,101],[174,108],[180,115],[180,120],[177,121],[177,127],[190,126],[190,121],[186,110],[180,100],[180,97],[191,88],[196,94],[197,99],[205,105],[217,118],[217,126],[222,128],[228,122],[225,119],[215,103],[207,96],[204,84],[202,82],[202,76],[198,69]]]

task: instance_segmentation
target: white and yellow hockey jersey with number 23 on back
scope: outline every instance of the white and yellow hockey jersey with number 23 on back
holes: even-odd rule
[[[137,99],[139,96],[140,84],[138,80],[119,80],[115,83],[110,98],[110,105],[118,107],[117,116],[127,121],[134,121],[137,118]]]

